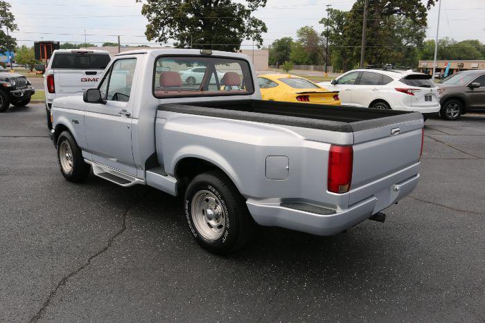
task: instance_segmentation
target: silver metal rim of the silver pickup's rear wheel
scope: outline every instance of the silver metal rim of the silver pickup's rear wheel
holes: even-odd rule
[[[191,203],[192,220],[197,231],[208,240],[222,237],[226,228],[226,216],[222,203],[212,192],[197,192]]]

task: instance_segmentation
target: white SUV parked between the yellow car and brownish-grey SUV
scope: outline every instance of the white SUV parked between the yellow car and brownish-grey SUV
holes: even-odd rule
[[[426,115],[439,112],[439,91],[431,75],[396,69],[357,69],[332,82],[321,82],[329,91],[340,91],[342,105],[418,111]]]

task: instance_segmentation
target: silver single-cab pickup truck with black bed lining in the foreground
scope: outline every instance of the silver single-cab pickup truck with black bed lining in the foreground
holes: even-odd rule
[[[53,101],[60,171],[182,196],[189,232],[220,254],[255,223],[336,234],[414,190],[421,113],[263,101],[254,80],[238,53],[118,54],[96,89]]]

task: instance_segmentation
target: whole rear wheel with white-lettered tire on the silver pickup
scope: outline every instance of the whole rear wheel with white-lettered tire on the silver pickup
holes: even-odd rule
[[[222,172],[195,176],[188,184],[184,208],[195,241],[215,254],[235,252],[252,237],[254,220],[245,199]]]

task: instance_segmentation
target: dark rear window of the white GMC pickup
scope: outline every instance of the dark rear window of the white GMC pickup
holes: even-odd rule
[[[111,57],[96,53],[55,53],[51,68],[75,70],[104,70]]]

